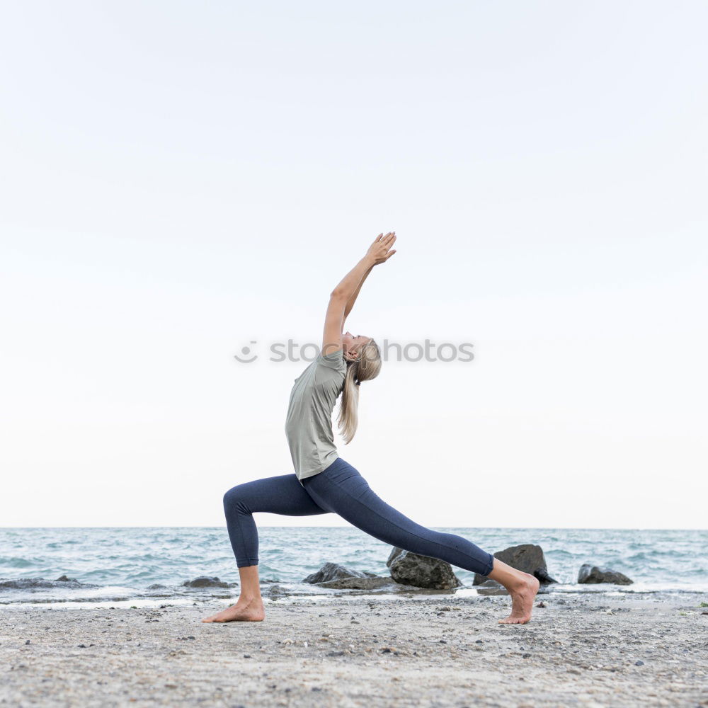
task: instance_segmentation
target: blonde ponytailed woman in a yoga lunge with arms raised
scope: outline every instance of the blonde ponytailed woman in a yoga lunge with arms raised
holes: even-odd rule
[[[332,433],[332,411],[341,394],[338,424],[345,443],[357,429],[359,387],[381,370],[377,343],[343,332],[344,321],[375,265],[396,253],[395,232],[379,234],[366,256],[344,276],[329,297],[319,356],[295,379],[285,433],[294,474],[239,484],[224,494],[229,539],[241,576],[238,602],[202,622],[258,622],[264,619],[258,583],[258,530],[253,513],[288,516],[336,513],[367,534],[407,551],[432,556],[501,583],[511,595],[511,614],[502,624],[525,624],[531,617],[539,582],[491,554],[450,533],[414,523],[382,501],[367,481],[338,456]]]

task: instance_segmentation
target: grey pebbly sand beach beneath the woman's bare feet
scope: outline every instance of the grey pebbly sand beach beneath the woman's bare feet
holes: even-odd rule
[[[161,609],[5,607],[9,706],[708,706],[697,595],[338,597],[204,624],[226,602]]]

